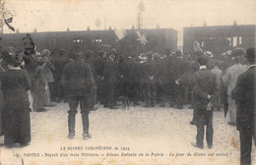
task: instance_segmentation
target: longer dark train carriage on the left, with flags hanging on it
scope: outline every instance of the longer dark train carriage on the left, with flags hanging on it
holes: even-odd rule
[[[3,45],[22,47],[27,35],[28,33],[6,33],[3,35]],[[114,48],[120,54],[128,56],[131,53],[177,49],[177,31],[172,28],[126,29],[121,38],[114,29],[47,32],[34,30],[29,35],[38,52],[54,48],[66,49],[69,53],[76,47],[96,52],[110,51]]]

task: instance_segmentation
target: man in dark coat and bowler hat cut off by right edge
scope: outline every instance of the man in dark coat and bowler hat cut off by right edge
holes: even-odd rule
[[[256,145],[256,57],[255,47],[248,48],[249,69],[237,78],[232,97],[236,101],[236,128],[240,135],[240,164],[251,164],[252,139]]]

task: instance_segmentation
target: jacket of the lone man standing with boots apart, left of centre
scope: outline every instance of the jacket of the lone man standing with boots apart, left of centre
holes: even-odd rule
[[[69,96],[91,94],[93,82],[92,71],[88,63],[75,60],[65,66],[61,83],[67,89]]]

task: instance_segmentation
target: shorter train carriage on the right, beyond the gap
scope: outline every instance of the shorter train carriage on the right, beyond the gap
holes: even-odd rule
[[[184,27],[183,52],[192,53],[195,45],[211,51],[216,58],[227,50],[255,46],[256,25]]]

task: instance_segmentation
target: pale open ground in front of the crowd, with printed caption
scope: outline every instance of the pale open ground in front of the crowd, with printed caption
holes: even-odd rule
[[[1,146],[2,165],[239,164],[239,135],[226,124],[223,111],[214,112],[212,149],[206,143],[204,149],[191,145],[196,127],[189,124],[193,110],[187,106],[183,110],[141,106],[110,110],[99,105],[90,113],[92,138],[88,140],[82,137],[80,113],[76,137],[67,138],[67,111],[68,104],[59,103],[46,112],[32,112],[31,144]],[[255,153],[253,146],[252,155]],[[256,157],[252,159],[256,164]]]

